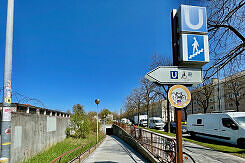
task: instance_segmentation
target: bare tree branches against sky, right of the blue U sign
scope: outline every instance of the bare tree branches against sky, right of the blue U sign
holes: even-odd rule
[[[210,78],[229,62],[241,63],[244,59],[245,1],[208,0],[207,10],[210,57],[213,62],[207,69],[212,73],[205,74],[205,78]]]

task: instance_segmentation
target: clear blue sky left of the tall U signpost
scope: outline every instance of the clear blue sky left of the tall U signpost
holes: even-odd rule
[[[95,111],[99,98],[100,108],[119,112],[154,52],[171,56],[170,13],[188,2],[16,0],[13,91],[50,109],[71,110],[79,103]],[[6,6],[7,0],[0,2],[1,83]]]

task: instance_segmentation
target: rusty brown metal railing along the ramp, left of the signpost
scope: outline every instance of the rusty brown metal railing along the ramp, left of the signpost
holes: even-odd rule
[[[176,162],[175,138],[127,124],[117,122],[114,124],[123,128],[161,162]]]

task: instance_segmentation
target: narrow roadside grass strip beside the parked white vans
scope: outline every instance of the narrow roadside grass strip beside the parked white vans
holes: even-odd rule
[[[156,132],[156,133],[176,137],[176,135],[173,133],[167,133],[164,131],[159,131],[159,130],[149,129],[149,128],[145,128],[145,129]],[[193,138],[183,137],[183,139],[185,141],[195,143],[195,144],[207,147],[207,148],[211,148],[211,149],[214,149],[216,151],[220,151],[220,152],[224,152],[224,153],[230,153],[232,155],[245,158],[245,149],[237,148],[236,146],[228,144],[228,143],[222,143],[219,141],[214,141],[214,140],[209,140],[209,139],[204,139],[204,138],[198,138],[198,137],[193,137]]]

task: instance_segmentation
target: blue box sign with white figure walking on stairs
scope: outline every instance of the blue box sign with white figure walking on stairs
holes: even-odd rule
[[[179,61],[187,64],[194,62],[199,65],[209,62],[208,36],[181,34]]]

